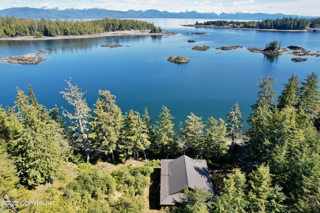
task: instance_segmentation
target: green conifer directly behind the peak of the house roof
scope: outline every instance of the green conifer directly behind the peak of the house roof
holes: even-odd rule
[[[184,136],[184,145],[194,156],[201,157],[204,145],[204,125],[202,117],[197,117],[192,112],[186,116],[185,125],[180,128]]]

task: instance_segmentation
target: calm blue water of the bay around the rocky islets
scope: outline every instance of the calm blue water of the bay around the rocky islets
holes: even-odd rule
[[[250,105],[256,100],[259,76],[275,77],[274,88],[282,90],[282,83],[292,73],[304,79],[312,71],[320,74],[320,57],[305,56],[306,62],[294,63],[292,55],[268,59],[252,53],[248,47],[263,48],[277,40],[283,46],[298,45],[320,51],[320,33],[269,32],[235,29],[183,27],[202,19],[150,18],[162,29],[178,34],[158,36],[114,36],[39,41],[0,41],[0,57],[35,53],[38,48],[50,53],[37,65],[0,63],[0,104],[13,106],[16,87],[27,92],[30,84],[39,103],[47,108],[54,104],[68,107],[59,91],[66,86],[64,79],[87,91],[90,107],[98,98],[98,89],[110,90],[117,96],[122,112],[130,109],[143,114],[145,107],[154,120],[165,105],[175,117],[175,128],[193,112],[203,121],[213,116],[225,118],[232,104],[238,102],[244,120]],[[208,34],[196,35],[202,31]],[[195,43],[188,43],[193,39]],[[122,47],[100,47],[101,44],[122,44]],[[206,45],[206,51],[192,50],[195,45]],[[243,48],[223,51],[215,47],[241,45]],[[129,47],[125,47],[129,46]],[[216,54],[217,52],[222,52]],[[167,61],[171,55],[183,55],[187,64]],[[279,94],[278,92],[278,94]],[[247,126],[246,126],[247,127]]]

